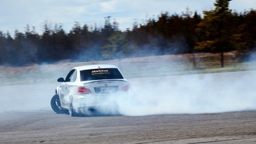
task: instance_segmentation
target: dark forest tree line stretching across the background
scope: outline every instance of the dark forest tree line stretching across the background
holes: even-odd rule
[[[24,32],[0,31],[0,65],[25,66],[31,63],[51,63],[63,59],[98,61],[210,52],[221,55],[239,51],[242,57],[256,50],[256,11],[231,12],[229,1],[216,0],[215,9],[203,16],[188,8],[182,14],[161,12],[143,24],[134,22],[131,29],[121,31],[119,23],[108,16],[104,26],[74,23],[66,33],[62,24],[44,23],[38,34],[27,25]]]

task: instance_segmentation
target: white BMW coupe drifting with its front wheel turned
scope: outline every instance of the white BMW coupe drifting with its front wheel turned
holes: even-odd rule
[[[113,65],[89,65],[72,68],[51,99],[55,113],[75,116],[83,111],[97,111],[109,96],[127,93],[130,83]]]

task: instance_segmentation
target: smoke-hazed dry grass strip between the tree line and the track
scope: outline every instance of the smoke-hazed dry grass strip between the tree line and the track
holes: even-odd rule
[[[225,68],[220,66],[220,56],[212,53],[132,57],[110,61],[66,60],[23,67],[0,66],[0,85],[55,82],[57,78],[66,76],[71,68],[89,64],[114,64],[126,78],[256,70],[256,61],[242,63],[236,57],[236,52],[225,53]]]

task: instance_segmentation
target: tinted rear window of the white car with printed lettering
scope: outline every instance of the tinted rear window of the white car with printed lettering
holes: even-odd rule
[[[81,70],[80,75],[81,81],[123,78],[122,74],[117,68]]]

